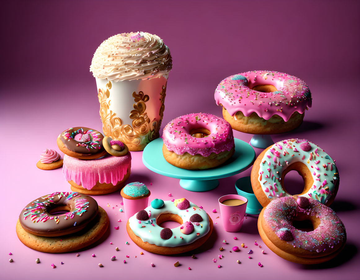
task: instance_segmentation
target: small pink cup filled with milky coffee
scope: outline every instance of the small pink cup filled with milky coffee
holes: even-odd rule
[[[222,204],[227,199],[240,199],[245,203],[237,206],[229,206]],[[219,198],[219,206],[221,213],[222,226],[225,231],[229,232],[237,232],[241,230],[243,225],[246,206],[247,206],[247,198],[238,194],[228,194]]]

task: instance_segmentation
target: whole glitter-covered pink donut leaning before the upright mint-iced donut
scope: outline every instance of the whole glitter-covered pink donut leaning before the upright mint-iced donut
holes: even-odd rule
[[[294,221],[308,220],[314,230],[303,231]],[[271,201],[258,218],[262,241],[278,256],[302,264],[322,263],[334,258],[346,243],[340,218],[318,200],[282,197]]]

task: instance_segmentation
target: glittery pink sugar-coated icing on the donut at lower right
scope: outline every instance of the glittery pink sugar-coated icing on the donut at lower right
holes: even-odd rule
[[[274,199],[264,210],[264,220],[280,239],[293,247],[318,253],[331,251],[346,240],[345,226],[331,208],[317,200],[308,200],[307,208],[301,208],[293,197]],[[320,218],[320,224],[310,232],[298,230],[291,222],[298,213],[316,216]]]

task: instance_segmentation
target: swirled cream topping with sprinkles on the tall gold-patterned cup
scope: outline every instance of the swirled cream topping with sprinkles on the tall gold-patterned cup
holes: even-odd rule
[[[169,48],[157,35],[121,33],[102,42],[91,61],[93,76],[109,81],[148,79],[172,68]]]

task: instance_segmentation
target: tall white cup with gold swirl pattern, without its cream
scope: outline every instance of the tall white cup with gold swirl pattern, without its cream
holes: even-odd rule
[[[130,151],[141,151],[158,138],[167,77],[166,73],[144,80],[95,78],[104,134],[122,141]]]

